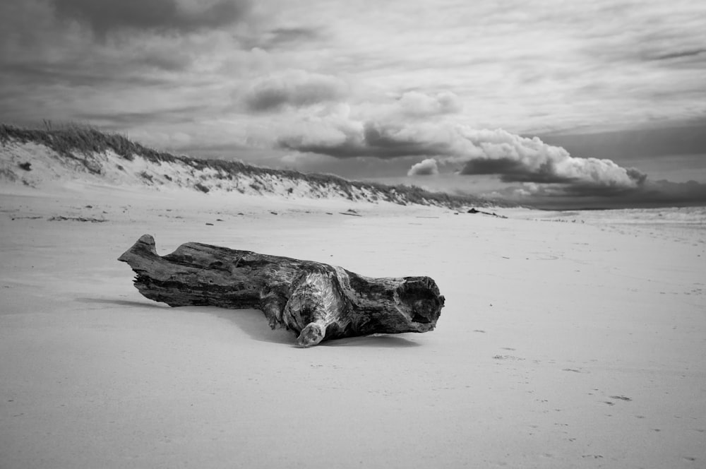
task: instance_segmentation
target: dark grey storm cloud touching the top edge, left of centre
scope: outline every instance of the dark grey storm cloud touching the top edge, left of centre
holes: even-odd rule
[[[61,18],[89,25],[100,37],[124,28],[192,32],[235,23],[248,11],[244,0],[220,0],[187,10],[176,0],[53,0]]]

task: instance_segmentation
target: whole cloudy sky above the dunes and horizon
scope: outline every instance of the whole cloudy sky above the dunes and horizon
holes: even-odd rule
[[[2,0],[0,121],[540,206],[706,204],[702,0]]]

